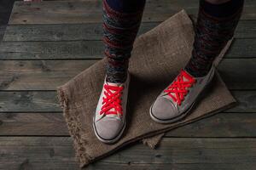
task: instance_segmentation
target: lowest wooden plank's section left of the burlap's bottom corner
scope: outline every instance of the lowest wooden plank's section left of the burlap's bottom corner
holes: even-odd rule
[[[0,169],[79,169],[71,138],[0,138]]]

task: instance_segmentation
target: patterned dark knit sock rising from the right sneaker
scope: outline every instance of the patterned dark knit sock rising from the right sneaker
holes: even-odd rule
[[[233,37],[242,7],[243,0],[221,4],[200,1],[192,58],[185,67],[189,74],[194,77],[207,75],[213,60]]]

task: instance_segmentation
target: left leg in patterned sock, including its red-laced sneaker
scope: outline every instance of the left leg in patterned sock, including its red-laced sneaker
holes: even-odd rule
[[[126,124],[129,89],[128,61],[140,26],[145,0],[103,0],[103,42],[108,59],[107,77],[96,107],[96,137],[114,143]]]

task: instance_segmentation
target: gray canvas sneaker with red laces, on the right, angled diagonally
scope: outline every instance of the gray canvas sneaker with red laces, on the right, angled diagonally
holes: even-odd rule
[[[182,70],[175,80],[157,97],[149,114],[155,122],[176,122],[187,116],[202,90],[211,82],[214,66],[205,77],[192,77]]]

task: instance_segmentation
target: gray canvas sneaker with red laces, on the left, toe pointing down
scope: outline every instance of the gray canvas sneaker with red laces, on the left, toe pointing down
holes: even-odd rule
[[[124,83],[106,82],[105,78],[93,117],[94,132],[103,143],[113,144],[125,130],[129,82],[129,73]]]

